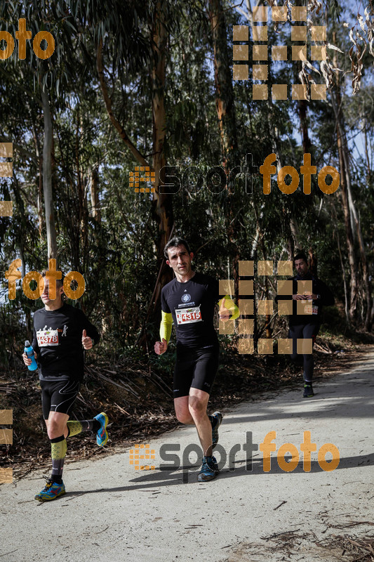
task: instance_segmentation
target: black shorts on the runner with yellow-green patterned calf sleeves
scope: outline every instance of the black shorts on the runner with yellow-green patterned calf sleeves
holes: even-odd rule
[[[78,381],[63,379],[62,381],[40,381],[41,407],[44,419],[48,419],[49,412],[68,414],[79,393]]]

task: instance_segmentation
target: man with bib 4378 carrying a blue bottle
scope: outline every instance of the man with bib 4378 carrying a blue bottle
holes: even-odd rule
[[[78,308],[62,301],[62,280],[56,281],[56,298],[49,298],[49,280],[44,277],[41,300],[44,308],[34,313],[32,347],[37,357],[41,386],[41,404],[51,440],[52,473],[46,487],[35,496],[46,502],[65,494],[62,469],[67,450],[66,438],[81,431],[97,433],[99,446],[107,443],[107,415],[102,412],[94,419],[67,421],[84,375],[84,349],[98,343],[98,330]],[[32,360],[22,355],[25,365]]]

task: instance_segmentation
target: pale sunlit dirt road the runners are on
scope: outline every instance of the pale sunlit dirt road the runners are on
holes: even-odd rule
[[[302,399],[301,390],[269,393],[225,412],[220,429],[225,466],[210,483],[196,482],[196,431],[185,427],[151,441],[156,467],[151,471],[135,470],[129,450],[67,461],[67,494],[48,504],[33,499],[43,484],[40,471],[1,485],[0,560],[353,559],[342,555],[339,537],[374,535],[374,353],[354,370],[317,383],[315,391],[312,399]],[[261,443],[274,431],[268,439],[275,437],[276,450],[265,471]],[[306,431],[316,444],[309,472],[300,447]],[[290,445],[281,447],[285,443]],[[333,457],[327,452],[323,464],[325,443],[333,445],[325,448],[335,458],[338,450],[333,471],[323,470],[331,468]],[[189,450],[195,466],[187,461]],[[286,471],[290,453],[297,466]]]

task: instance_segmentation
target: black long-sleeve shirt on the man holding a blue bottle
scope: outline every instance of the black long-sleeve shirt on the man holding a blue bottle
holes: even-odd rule
[[[98,330],[79,308],[64,303],[55,311],[41,308],[34,313],[32,347],[38,353],[39,379],[83,379],[84,329],[94,344],[98,344]]]

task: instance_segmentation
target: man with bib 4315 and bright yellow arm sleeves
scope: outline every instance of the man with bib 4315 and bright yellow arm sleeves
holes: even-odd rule
[[[205,482],[213,480],[219,472],[213,448],[218,443],[218,427],[222,421],[220,412],[209,416],[206,413],[220,353],[213,325],[214,311],[219,303],[223,322],[237,318],[239,311],[228,297],[220,300],[217,280],[192,270],[194,254],[185,240],[179,237],[170,240],[165,256],[175,279],[161,292],[161,341],[156,341],[154,351],[158,355],[165,353],[174,324],[177,336],[173,381],[175,414],[182,424],[196,426],[203,448],[198,481]]]

